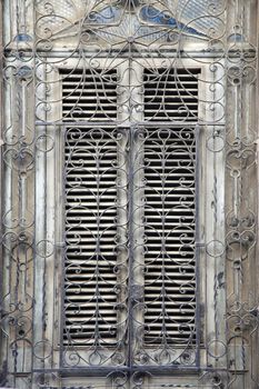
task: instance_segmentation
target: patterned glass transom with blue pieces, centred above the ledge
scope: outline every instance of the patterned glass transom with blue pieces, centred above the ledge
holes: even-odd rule
[[[128,51],[127,43],[135,43],[135,50],[156,50],[159,44],[177,50],[180,41],[208,44],[225,30],[223,0],[213,4],[210,0],[39,1],[37,13],[38,49],[48,40],[52,44],[64,40],[70,47],[99,46],[109,51]]]

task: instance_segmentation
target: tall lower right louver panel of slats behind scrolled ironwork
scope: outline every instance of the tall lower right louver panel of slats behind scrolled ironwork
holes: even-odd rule
[[[196,313],[193,129],[150,130],[147,138],[145,340],[185,343],[195,337]],[[186,151],[180,162],[178,150]]]

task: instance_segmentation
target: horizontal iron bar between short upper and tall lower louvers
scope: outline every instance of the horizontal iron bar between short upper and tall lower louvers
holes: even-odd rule
[[[147,121],[139,121],[136,123],[123,123],[121,122],[111,122],[111,121],[36,121],[36,126],[58,126],[58,127],[79,127],[79,126],[89,126],[89,127],[120,127],[120,128],[131,128],[131,127],[196,127],[196,126],[212,126],[212,127],[225,127],[226,123],[218,123],[218,122],[202,122],[202,121],[193,121],[193,122],[165,122],[165,121],[157,121],[157,122],[147,122]]]

